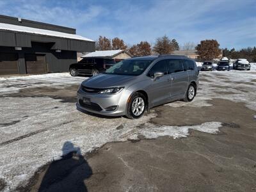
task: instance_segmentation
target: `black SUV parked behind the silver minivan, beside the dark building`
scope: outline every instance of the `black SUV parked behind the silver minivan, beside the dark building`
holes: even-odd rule
[[[96,76],[99,73],[105,72],[108,68],[115,65],[113,59],[106,58],[83,58],[78,63],[70,65],[69,71],[71,76],[77,75],[92,75]]]

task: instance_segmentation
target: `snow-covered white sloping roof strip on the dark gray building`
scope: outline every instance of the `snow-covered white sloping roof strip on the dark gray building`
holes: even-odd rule
[[[85,38],[80,35],[70,34],[70,33],[63,33],[59,31],[51,31],[51,30],[45,30],[45,29],[38,29],[38,28],[29,28],[25,26],[17,26],[13,24],[6,24],[6,23],[0,23],[0,30],[5,31],[17,31],[22,33],[31,33],[36,35],[45,35],[45,36],[56,36],[60,38],[69,38],[74,40],[84,40],[88,42],[94,42],[93,40],[89,38]]]

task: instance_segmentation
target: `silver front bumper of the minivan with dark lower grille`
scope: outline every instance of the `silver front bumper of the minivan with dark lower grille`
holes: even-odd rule
[[[90,100],[90,103],[83,103],[84,97]],[[127,100],[129,93],[127,90],[122,92],[108,95],[108,94],[91,94],[85,93],[81,89],[77,91],[77,109],[79,111],[89,111],[99,115],[106,116],[123,116],[126,115]],[[114,111],[107,111],[106,108],[117,106]]]

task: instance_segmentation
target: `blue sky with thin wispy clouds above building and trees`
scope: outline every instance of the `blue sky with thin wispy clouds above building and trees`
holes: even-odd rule
[[[76,28],[93,40],[118,36],[128,45],[167,35],[180,45],[213,38],[221,48],[256,46],[255,0],[0,0],[0,14]]]

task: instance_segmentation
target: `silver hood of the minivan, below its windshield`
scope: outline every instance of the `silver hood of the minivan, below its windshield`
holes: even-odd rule
[[[121,76],[112,74],[99,74],[83,81],[83,86],[90,88],[109,88],[115,86],[129,86],[137,76]]]

